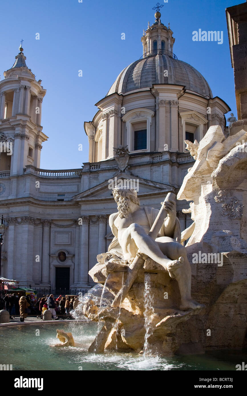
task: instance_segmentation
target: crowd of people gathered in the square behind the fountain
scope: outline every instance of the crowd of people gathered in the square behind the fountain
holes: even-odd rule
[[[57,299],[53,294],[43,295],[35,303],[29,301],[28,296],[19,297],[15,293],[0,295],[0,309],[6,309],[11,316],[20,315],[20,321],[24,322],[27,315],[31,312],[31,308],[40,316],[45,310],[52,312],[52,318],[57,319],[57,315],[69,315],[79,303],[79,296],[63,297],[59,295]]]

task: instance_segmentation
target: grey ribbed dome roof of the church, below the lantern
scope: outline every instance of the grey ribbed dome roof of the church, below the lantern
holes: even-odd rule
[[[127,93],[149,88],[152,84],[183,85],[188,91],[203,97],[213,97],[209,84],[199,71],[188,63],[175,59],[175,55],[165,54],[149,55],[131,63],[119,74],[106,96],[115,92]]]

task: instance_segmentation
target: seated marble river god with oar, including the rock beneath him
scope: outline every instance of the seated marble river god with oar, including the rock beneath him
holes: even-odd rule
[[[101,293],[107,289],[108,303],[97,310],[90,291],[83,307],[85,316],[103,325],[89,351],[141,352],[146,337],[145,353],[149,345],[151,354],[171,355],[178,348],[176,325],[204,307],[191,298],[191,268],[180,243],[175,194],[168,193],[160,211],[140,206],[133,189],[114,188],[113,197],[118,208],[109,217],[114,238],[89,272],[104,284]],[[151,295],[145,296],[147,284]],[[150,307],[145,306],[148,299]]]

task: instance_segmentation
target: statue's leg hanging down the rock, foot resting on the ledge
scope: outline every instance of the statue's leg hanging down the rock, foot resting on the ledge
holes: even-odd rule
[[[163,254],[167,255],[170,259],[176,260],[179,257],[183,257],[184,259],[184,263],[181,267],[172,269],[168,267],[168,272],[172,273],[172,277],[178,282],[181,294],[180,309],[203,307],[203,305],[191,299],[191,267],[187,258],[186,248],[168,237],[157,238],[156,242]]]

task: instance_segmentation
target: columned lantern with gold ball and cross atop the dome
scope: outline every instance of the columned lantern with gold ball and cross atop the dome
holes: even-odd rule
[[[168,55],[173,57],[173,44],[175,38],[172,37],[172,30],[170,29],[170,22],[168,27],[161,23],[160,8],[163,5],[157,3],[153,10],[155,12],[155,22],[152,26],[147,25],[147,30],[143,30],[142,45],[143,45],[143,57],[146,58],[150,55]]]

